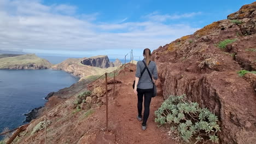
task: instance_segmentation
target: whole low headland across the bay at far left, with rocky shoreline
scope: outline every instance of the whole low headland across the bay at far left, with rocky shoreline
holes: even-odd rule
[[[48,69],[51,63],[34,54],[27,55],[3,55],[0,59],[0,69]]]

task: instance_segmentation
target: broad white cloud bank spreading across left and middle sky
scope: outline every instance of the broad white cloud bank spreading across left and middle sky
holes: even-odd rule
[[[144,22],[125,22],[126,17],[118,23],[106,23],[97,20],[98,13],[77,14],[77,9],[64,4],[44,5],[40,1],[0,0],[0,50],[72,53],[145,47],[156,49],[197,29],[189,25],[161,23],[166,19],[191,17],[197,13],[172,18],[151,14],[148,15],[150,19]]]

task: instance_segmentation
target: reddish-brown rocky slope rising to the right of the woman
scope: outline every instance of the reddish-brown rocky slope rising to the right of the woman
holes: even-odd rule
[[[256,142],[255,32],[256,2],[153,51],[164,98],[187,94],[216,113],[221,143]]]

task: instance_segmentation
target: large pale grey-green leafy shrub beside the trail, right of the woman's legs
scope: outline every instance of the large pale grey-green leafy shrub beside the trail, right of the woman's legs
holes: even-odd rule
[[[185,95],[170,95],[155,111],[155,116],[155,122],[170,125],[185,142],[195,139],[196,142],[211,140],[218,143],[218,117],[208,109],[201,109],[199,104],[186,100]]]

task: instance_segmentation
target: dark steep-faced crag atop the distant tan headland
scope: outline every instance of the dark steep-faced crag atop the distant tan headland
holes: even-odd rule
[[[108,56],[95,56],[90,58],[85,58],[82,62],[84,65],[90,65],[92,67],[108,68],[114,67],[113,62],[110,62]]]

